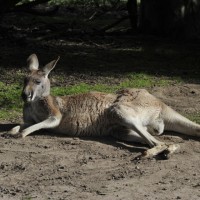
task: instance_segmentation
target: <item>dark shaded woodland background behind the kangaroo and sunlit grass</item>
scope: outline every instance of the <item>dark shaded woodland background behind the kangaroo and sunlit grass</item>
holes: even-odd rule
[[[31,53],[57,72],[87,76],[145,72],[199,82],[199,0],[0,1],[0,70]],[[85,76],[85,77],[84,77]]]

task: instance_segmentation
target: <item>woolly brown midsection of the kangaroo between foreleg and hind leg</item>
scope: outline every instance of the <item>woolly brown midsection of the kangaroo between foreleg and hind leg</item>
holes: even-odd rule
[[[88,93],[59,99],[62,120],[56,131],[69,136],[107,135],[112,127],[108,117],[114,95]]]

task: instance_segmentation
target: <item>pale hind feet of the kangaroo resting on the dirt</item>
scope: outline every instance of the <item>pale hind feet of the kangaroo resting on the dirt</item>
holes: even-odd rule
[[[168,159],[171,154],[178,151],[180,145],[178,144],[159,144],[151,149],[144,151],[141,155],[137,156],[135,159],[152,158],[156,156],[161,156],[162,159]]]

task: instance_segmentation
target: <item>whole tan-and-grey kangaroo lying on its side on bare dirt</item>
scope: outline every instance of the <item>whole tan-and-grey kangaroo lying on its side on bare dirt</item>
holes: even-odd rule
[[[179,149],[178,144],[166,144],[153,135],[164,131],[200,136],[200,125],[183,117],[145,89],[122,89],[115,94],[52,96],[48,75],[59,57],[39,68],[36,54],[28,57],[30,73],[24,79],[24,124],[6,134],[26,137],[40,129],[50,129],[67,136],[112,135],[126,141],[149,145],[143,157],[168,154]]]

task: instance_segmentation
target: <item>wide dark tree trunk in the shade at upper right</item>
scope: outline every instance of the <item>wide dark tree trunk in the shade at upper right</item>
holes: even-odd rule
[[[173,37],[199,37],[200,0],[141,0],[142,33]]]

